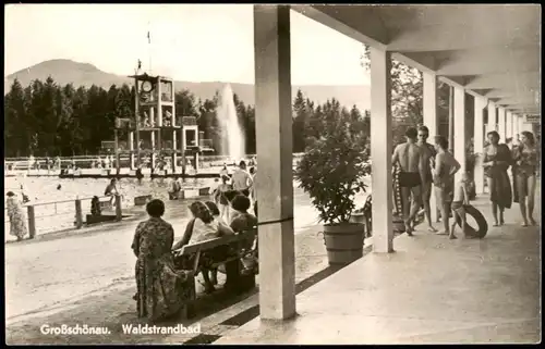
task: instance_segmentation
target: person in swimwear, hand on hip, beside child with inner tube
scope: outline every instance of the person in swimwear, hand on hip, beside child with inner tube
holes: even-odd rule
[[[448,151],[448,140],[443,136],[435,137],[435,166],[433,169],[435,197],[439,207],[443,228],[438,235],[449,235],[453,238],[453,234],[449,227],[449,208],[452,202],[453,187],[452,177],[460,170],[460,163]]]

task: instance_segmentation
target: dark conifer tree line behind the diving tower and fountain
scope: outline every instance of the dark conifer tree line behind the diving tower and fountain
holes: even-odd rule
[[[4,157],[71,157],[97,154],[101,141],[114,137],[116,117],[134,119],[135,89],[126,84],[108,89],[73,84],[60,86],[51,77],[23,87],[15,79],[4,97]],[[198,99],[189,91],[175,92],[177,116],[195,116],[199,130],[218,149],[221,144],[217,108],[219,92]],[[233,97],[247,153],[255,153],[255,108]],[[371,115],[353,105],[340,105],[335,98],[319,104],[299,90],[293,100],[293,152],[304,151],[310,138],[319,138],[342,116],[351,129],[368,135]],[[120,139],[128,135],[120,130]]]

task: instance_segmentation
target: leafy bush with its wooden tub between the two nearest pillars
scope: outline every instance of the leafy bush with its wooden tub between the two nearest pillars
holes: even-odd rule
[[[338,117],[312,138],[301,158],[295,178],[311,197],[324,224],[329,264],[348,264],[363,255],[365,225],[352,223],[354,197],[365,191],[365,136]]]

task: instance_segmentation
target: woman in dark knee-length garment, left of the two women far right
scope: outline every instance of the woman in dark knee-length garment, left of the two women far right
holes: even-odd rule
[[[487,134],[488,146],[484,149],[483,167],[488,182],[492,201],[494,226],[505,223],[504,211],[511,208],[512,191],[507,169],[512,163],[511,151],[506,145],[499,144],[499,134],[492,130]],[[498,220],[499,211],[499,220]]]

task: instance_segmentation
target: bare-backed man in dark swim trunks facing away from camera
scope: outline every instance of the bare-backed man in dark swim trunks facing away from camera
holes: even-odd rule
[[[399,165],[399,186],[401,187],[401,200],[403,205],[403,220],[407,235],[412,236],[414,217],[422,205],[421,185],[425,178],[425,164],[423,150],[416,144],[417,130],[410,127],[405,132],[407,142],[399,145],[391,157],[392,165]],[[412,194],[412,204],[410,198]]]

